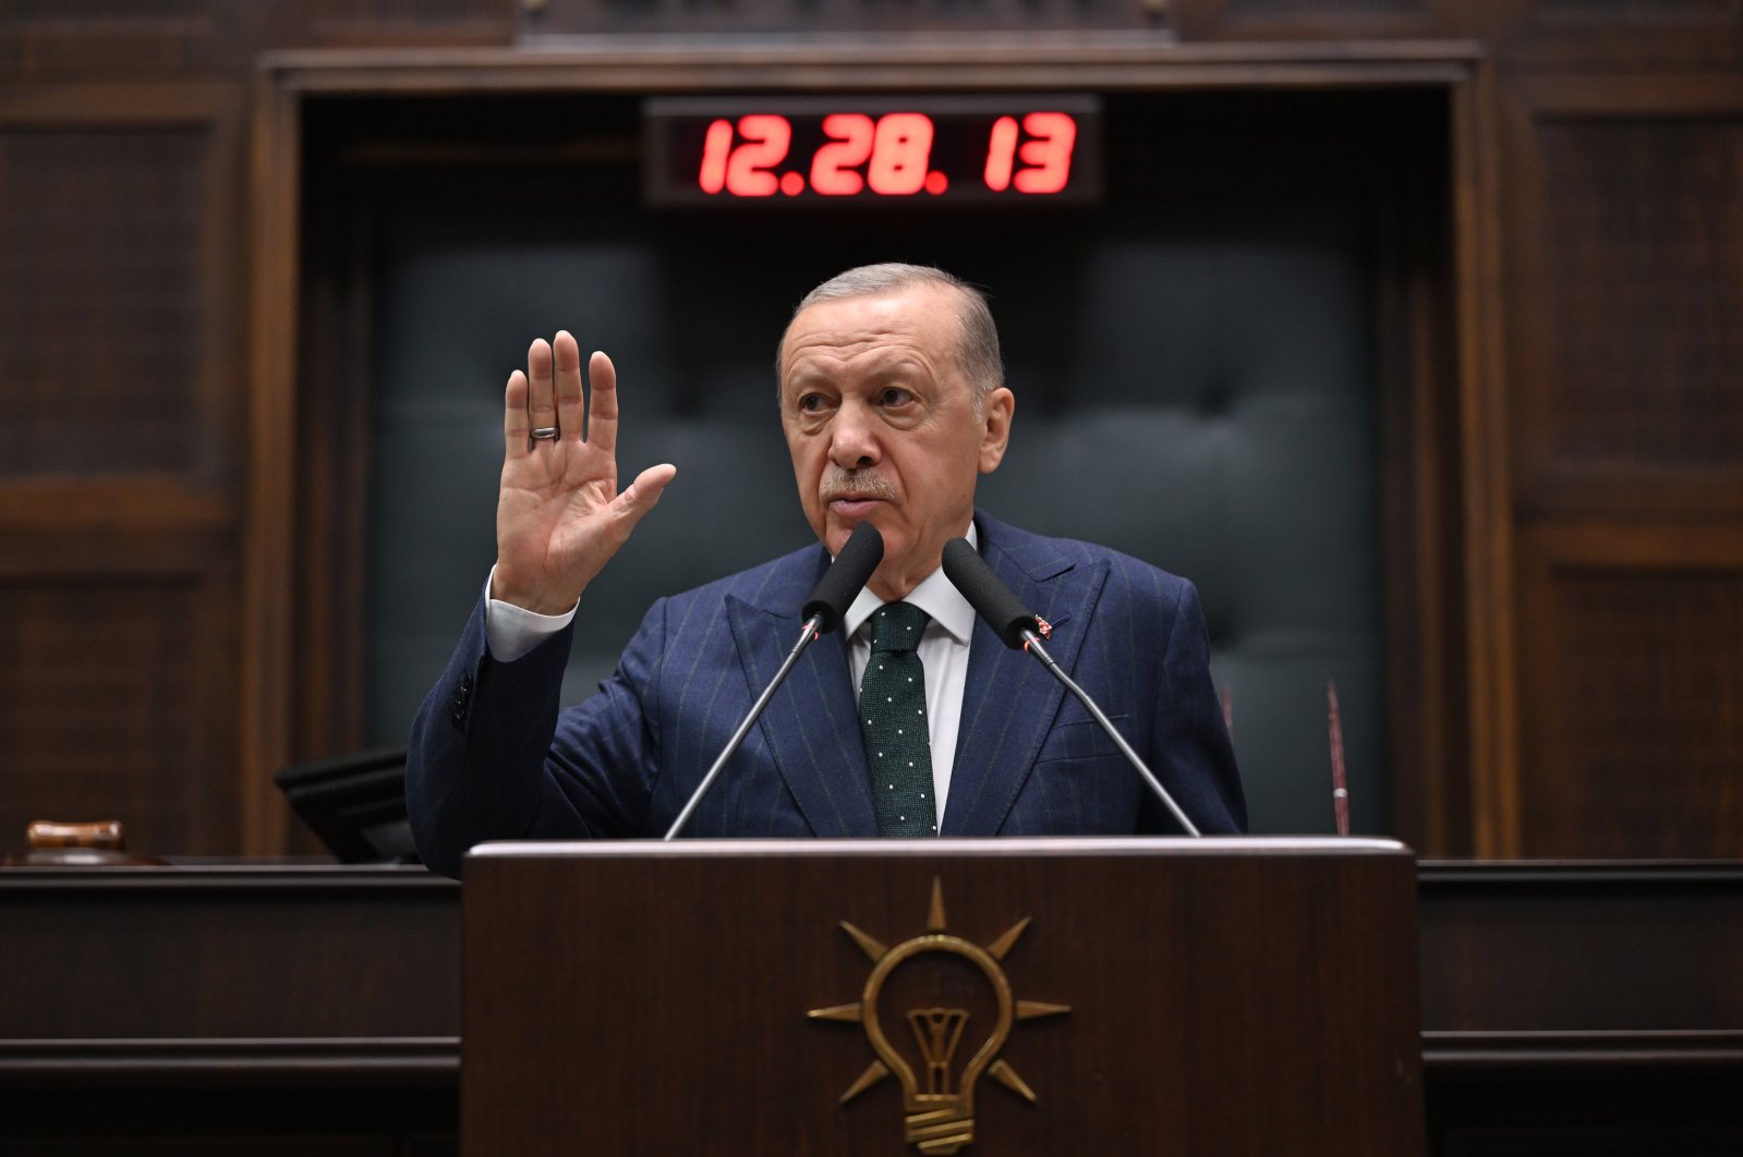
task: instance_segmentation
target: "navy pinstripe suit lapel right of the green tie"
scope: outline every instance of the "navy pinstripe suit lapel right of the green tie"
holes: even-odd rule
[[[976,516],[981,556],[1016,598],[1053,626],[1048,653],[1070,673],[1107,565],[1077,566],[1044,538]],[[969,643],[962,723],[945,803],[946,836],[997,835],[1035,767],[1065,688],[1032,655],[1007,648],[985,622]]]

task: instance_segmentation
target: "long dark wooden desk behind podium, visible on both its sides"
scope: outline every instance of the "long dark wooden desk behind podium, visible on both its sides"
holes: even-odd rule
[[[1433,1152],[1743,1152],[1743,864],[1419,882]],[[0,1154],[451,1154],[458,899],[420,868],[0,871]]]

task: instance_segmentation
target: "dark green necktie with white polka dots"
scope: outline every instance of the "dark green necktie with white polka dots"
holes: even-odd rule
[[[872,612],[872,659],[859,680],[859,735],[880,836],[938,835],[926,669],[915,648],[927,615],[908,603]]]

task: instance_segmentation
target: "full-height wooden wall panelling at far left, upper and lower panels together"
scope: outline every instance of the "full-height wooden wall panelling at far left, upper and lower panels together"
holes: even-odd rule
[[[101,812],[239,850],[239,120],[221,82],[0,91],[5,847]]]

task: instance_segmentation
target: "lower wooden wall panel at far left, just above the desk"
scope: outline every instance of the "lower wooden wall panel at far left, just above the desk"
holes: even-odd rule
[[[0,849],[33,819],[235,854],[235,559],[227,533],[0,533]]]

